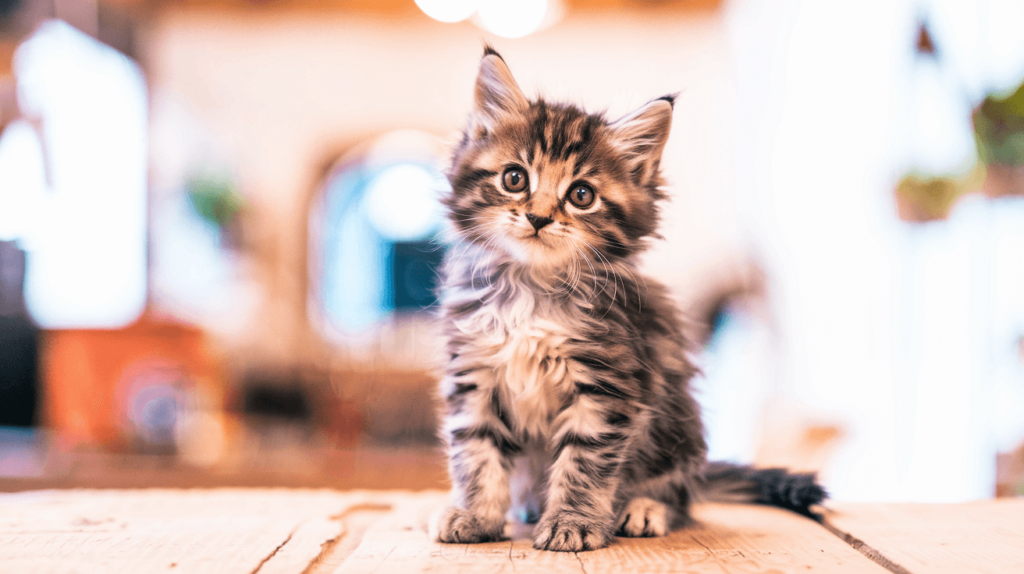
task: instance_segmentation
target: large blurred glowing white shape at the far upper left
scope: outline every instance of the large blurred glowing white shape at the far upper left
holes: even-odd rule
[[[29,312],[46,328],[127,324],[146,296],[142,73],[58,20],[22,44],[14,73],[18,103],[42,126],[41,141],[27,125],[9,128],[0,174],[0,186],[18,186],[0,194],[18,218],[0,221],[0,236],[28,251]]]

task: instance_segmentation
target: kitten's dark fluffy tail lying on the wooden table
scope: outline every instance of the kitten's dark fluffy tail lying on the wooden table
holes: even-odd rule
[[[785,469],[755,469],[729,462],[709,462],[696,485],[698,499],[720,502],[753,502],[793,511],[820,521],[811,510],[828,493],[815,482],[815,475],[794,474]]]

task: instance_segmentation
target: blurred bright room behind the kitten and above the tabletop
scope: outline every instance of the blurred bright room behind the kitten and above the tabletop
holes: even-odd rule
[[[438,194],[482,43],[681,92],[644,269],[711,456],[1024,494],[1024,4],[0,0],[0,490],[444,487]]]

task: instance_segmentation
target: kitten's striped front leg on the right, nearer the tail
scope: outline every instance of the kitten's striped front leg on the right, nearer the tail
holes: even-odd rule
[[[629,443],[629,403],[611,390],[579,384],[555,420],[547,504],[534,530],[534,547],[575,551],[600,548],[615,529],[618,471]]]

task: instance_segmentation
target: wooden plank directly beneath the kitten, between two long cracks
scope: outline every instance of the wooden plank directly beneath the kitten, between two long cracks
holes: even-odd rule
[[[336,574],[398,572],[886,572],[813,521],[776,509],[708,504],[697,524],[664,538],[618,538],[590,553],[538,551],[528,528],[510,541],[439,544],[424,530],[443,496],[395,500]]]

